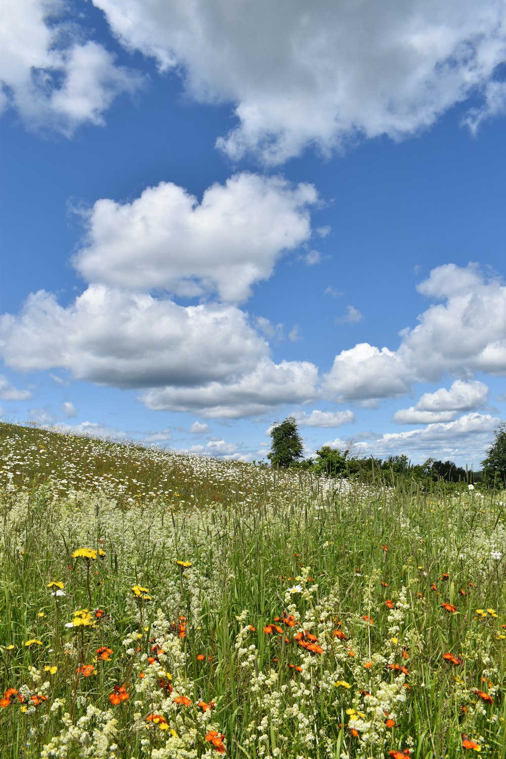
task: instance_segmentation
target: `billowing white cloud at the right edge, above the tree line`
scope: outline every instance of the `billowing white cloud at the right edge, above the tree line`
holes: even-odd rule
[[[476,264],[459,267],[451,263],[432,269],[418,290],[445,302],[431,304],[418,317],[416,327],[404,329],[396,351],[369,343],[341,351],[324,377],[326,398],[374,403],[404,395],[416,381],[438,382],[445,373],[464,378],[477,371],[495,376],[506,373],[506,287],[498,279],[486,279]],[[454,386],[453,396],[459,388],[462,391],[462,386]],[[476,388],[473,385],[474,391]],[[437,398],[441,400],[445,394]]]

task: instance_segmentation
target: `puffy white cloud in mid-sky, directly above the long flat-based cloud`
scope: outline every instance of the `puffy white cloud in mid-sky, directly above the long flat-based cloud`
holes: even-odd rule
[[[311,184],[245,172],[213,184],[200,203],[162,182],[132,203],[97,200],[74,265],[88,282],[244,301],[284,251],[310,238],[316,200]]]

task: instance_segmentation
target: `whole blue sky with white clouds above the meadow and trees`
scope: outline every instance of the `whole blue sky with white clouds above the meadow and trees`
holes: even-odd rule
[[[503,0],[5,0],[0,42],[3,418],[479,468]]]

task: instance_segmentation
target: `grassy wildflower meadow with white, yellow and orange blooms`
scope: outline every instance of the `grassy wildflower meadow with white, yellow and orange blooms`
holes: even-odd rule
[[[506,494],[0,425],[0,755],[506,759]]]

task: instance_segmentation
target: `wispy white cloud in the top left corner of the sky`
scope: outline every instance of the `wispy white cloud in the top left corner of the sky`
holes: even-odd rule
[[[5,0],[2,4],[2,109],[15,109],[31,128],[70,136],[103,114],[121,93],[134,93],[140,74],[115,65],[102,45],[77,39],[62,19],[61,0]]]

